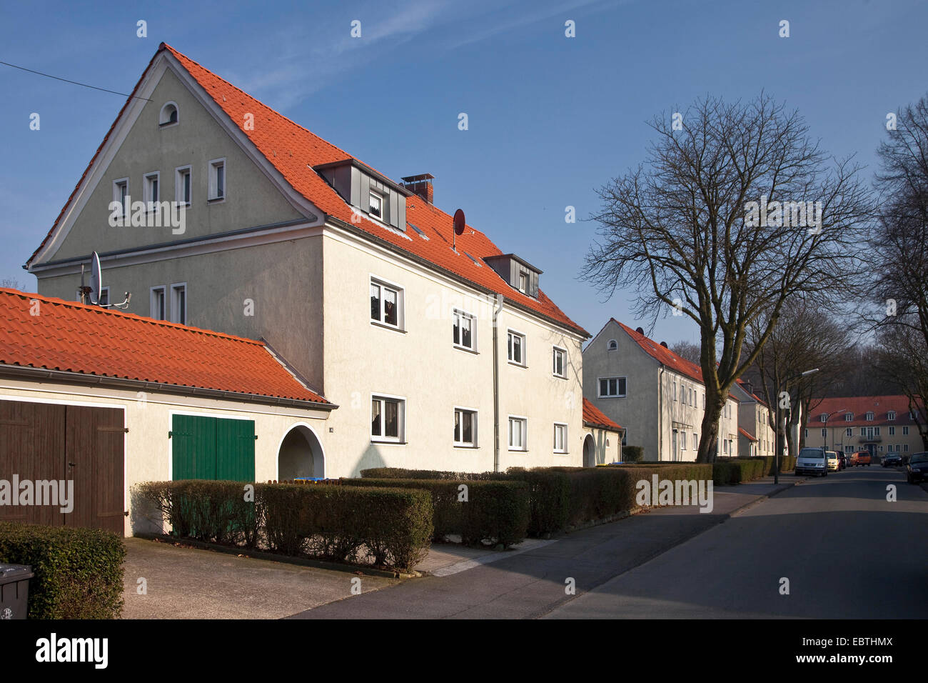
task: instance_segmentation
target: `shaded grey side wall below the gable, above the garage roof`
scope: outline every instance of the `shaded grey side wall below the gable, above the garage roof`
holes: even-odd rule
[[[264,338],[319,391],[323,386],[322,237],[105,268],[113,299],[132,293],[127,312],[150,315],[149,288],[187,282],[187,324]],[[40,280],[46,296],[74,300],[80,275]],[[246,311],[253,302],[253,315]],[[213,359],[221,367],[223,359]]]

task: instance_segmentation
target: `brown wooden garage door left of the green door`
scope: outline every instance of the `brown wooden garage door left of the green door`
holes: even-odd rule
[[[0,506],[0,519],[96,527],[122,536],[122,410],[0,401],[0,479],[72,480],[73,509]]]

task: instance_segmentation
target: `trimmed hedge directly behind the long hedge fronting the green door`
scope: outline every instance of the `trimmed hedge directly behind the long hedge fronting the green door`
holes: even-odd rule
[[[445,474],[436,472],[434,474]],[[401,487],[427,491],[432,500],[433,537],[459,534],[465,544],[489,540],[503,547],[520,543],[529,524],[529,487],[522,481],[479,479],[342,479],[346,487]],[[468,500],[458,499],[459,486]]]

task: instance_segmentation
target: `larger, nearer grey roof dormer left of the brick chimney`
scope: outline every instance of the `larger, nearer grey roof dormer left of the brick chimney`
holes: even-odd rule
[[[406,232],[406,197],[412,192],[356,159],[313,166],[342,199],[368,218]]]

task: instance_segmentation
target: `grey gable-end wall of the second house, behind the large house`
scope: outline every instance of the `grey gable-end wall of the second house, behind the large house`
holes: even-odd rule
[[[610,351],[614,339],[618,348]],[[660,363],[610,321],[583,352],[583,394],[626,429],[625,443],[644,447],[647,460],[658,455],[658,370]],[[625,377],[625,398],[600,399],[599,377]]]

